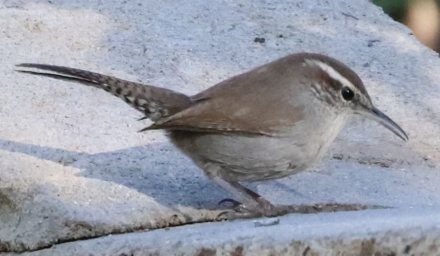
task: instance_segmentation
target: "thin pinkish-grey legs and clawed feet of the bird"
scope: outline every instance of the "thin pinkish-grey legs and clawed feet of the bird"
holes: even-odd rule
[[[234,211],[236,212],[234,215],[241,215],[243,217],[272,215],[272,210],[275,206],[256,192],[251,191],[236,181],[225,181],[220,177],[214,177],[213,180],[223,189],[232,193],[232,195],[241,202],[240,205],[234,208]],[[222,200],[221,202],[224,201],[225,200]],[[226,199],[226,201],[235,200]],[[223,214],[230,215],[230,212],[220,213],[220,215]]]

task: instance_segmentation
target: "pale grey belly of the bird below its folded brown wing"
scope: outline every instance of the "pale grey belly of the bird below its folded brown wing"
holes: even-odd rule
[[[317,160],[316,149],[289,137],[189,131],[172,131],[170,137],[208,176],[220,175],[229,181],[282,178],[305,170]],[[213,165],[219,168],[213,169]]]

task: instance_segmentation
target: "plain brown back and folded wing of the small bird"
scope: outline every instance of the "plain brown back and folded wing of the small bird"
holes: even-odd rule
[[[191,99],[192,106],[146,129],[274,135],[303,119],[295,105],[291,70],[283,59],[215,85]]]

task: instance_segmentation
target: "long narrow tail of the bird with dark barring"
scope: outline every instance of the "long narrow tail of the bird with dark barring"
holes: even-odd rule
[[[76,82],[106,90],[141,111],[145,114],[145,118],[149,118],[154,122],[179,112],[191,104],[188,96],[172,90],[142,85],[81,69],[31,63],[16,66],[48,70],[55,74],[17,70],[19,72]]]

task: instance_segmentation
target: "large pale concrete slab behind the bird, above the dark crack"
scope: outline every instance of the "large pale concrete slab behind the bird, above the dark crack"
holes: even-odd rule
[[[249,186],[279,204],[421,209],[408,219],[440,202],[440,59],[369,1],[5,0],[0,17],[0,252],[210,221],[228,197],[160,131],[137,133],[146,124],[122,101],[18,74],[21,62],[193,94],[293,52],[325,53],[360,75],[409,143],[353,120],[316,168]],[[325,216],[344,214],[379,213]],[[319,227],[313,216],[301,218]],[[231,224],[197,227],[222,225]],[[214,246],[217,237],[205,237]]]

